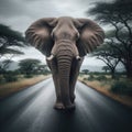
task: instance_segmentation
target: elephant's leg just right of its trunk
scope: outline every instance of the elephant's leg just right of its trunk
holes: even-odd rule
[[[72,64],[72,70],[70,70],[70,81],[69,81],[69,95],[70,95],[70,100],[74,103],[75,101],[75,85],[79,75],[79,69],[82,64],[84,58],[80,58],[80,61],[73,61]]]

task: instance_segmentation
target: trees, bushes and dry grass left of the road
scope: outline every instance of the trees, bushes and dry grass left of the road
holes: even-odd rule
[[[28,88],[51,76],[47,66],[38,65],[36,59],[24,59],[20,64],[22,66],[16,70],[2,70],[0,75],[0,98]]]

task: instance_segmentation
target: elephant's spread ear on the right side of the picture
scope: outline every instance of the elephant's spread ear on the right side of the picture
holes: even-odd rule
[[[85,56],[103,43],[105,32],[94,21],[89,19],[77,19],[76,25],[80,33],[80,37],[77,42],[80,56]]]

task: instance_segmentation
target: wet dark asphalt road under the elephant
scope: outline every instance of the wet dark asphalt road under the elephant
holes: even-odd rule
[[[132,109],[81,82],[76,96],[75,111],[54,110],[54,86],[46,79],[2,99],[0,132],[132,132]]]

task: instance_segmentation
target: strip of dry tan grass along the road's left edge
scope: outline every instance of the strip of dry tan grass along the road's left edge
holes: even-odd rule
[[[26,87],[35,85],[35,84],[37,84],[37,82],[40,82],[48,77],[50,76],[40,75],[40,76],[35,76],[33,78],[23,78],[19,81],[7,82],[3,85],[0,85],[0,98],[7,97],[11,94],[14,94],[19,90],[26,88]]]

